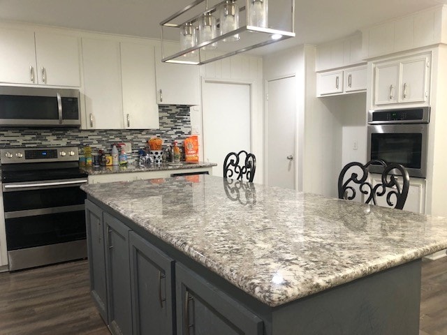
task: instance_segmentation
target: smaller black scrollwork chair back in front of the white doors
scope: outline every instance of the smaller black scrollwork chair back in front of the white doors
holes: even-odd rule
[[[223,177],[253,181],[256,172],[256,157],[247,151],[230,152],[223,161]]]

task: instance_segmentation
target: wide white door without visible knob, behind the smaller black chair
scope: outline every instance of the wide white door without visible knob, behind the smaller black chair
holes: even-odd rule
[[[250,85],[207,82],[202,87],[203,156],[217,163],[212,174],[223,176],[223,160],[250,146]]]

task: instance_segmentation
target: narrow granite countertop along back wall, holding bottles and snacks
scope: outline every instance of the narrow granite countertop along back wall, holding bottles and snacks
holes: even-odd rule
[[[126,165],[112,165],[112,166],[100,166],[94,167],[80,167],[81,172],[85,172],[90,175],[97,174],[111,174],[111,173],[128,173],[128,172],[146,172],[146,171],[161,171],[161,170],[183,170],[183,169],[197,169],[197,168],[212,168],[217,166],[216,163],[198,162],[198,163],[162,163],[161,165],[151,164],[140,166],[138,164],[126,164]]]

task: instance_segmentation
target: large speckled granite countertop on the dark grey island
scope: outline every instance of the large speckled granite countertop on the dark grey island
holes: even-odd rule
[[[447,248],[447,218],[221,177],[82,189],[268,306]]]

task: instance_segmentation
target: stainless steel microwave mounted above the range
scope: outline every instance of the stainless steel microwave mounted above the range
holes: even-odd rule
[[[0,87],[0,126],[79,127],[78,89]]]

